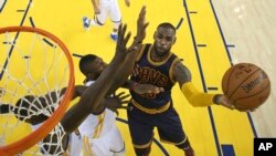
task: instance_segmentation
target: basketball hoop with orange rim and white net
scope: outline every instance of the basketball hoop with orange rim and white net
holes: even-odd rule
[[[1,103],[14,103],[25,94],[43,94],[67,86],[49,118],[38,129],[18,141],[10,143],[8,136],[12,135],[10,133],[15,134],[17,125],[23,122],[17,121],[9,126],[14,123],[9,119],[14,117],[11,114],[4,116],[7,122],[0,125],[0,155],[11,156],[34,146],[59,124],[74,92],[74,66],[68,49],[47,31],[31,27],[1,28],[0,41],[3,43],[0,46]],[[4,51],[6,60],[2,54]],[[4,131],[6,127],[9,132]]]

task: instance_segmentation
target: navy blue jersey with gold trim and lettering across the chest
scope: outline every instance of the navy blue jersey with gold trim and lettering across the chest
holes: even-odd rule
[[[178,61],[177,55],[170,53],[168,58],[162,62],[155,62],[150,58],[150,51],[152,44],[146,44],[142,46],[141,52],[138,55],[137,64],[139,65],[139,74],[131,76],[131,80],[140,84],[152,84],[164,89],[164,92],[159,94],[142,94],[139,95],[132,91],[135,106],[139,110],[156,114],[161,113],[162,110],[168,110],[171,103],[171,89],[174,85],[172,76],[172,66]],[[167,105],[167,107],[164,107]],[[156,112],[156,108],[160,108],[160,112]]]

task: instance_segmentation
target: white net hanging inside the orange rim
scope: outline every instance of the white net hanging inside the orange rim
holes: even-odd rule
[[[51,39],[33,32],[7,32],[0,34],[0,104],[11,104],[9,113],[0,114],[0,146],[19,141],[32,132],[31,125],[24,121],[33,115],[44,114],[51,116],[57,108],[57,101],[44,97],[50,92],[60,96],[60,90],[67,86],[70,70],[67,59],[62,49]],[[30,103],[32,108],[23,108],[17,102],[25,95],[42,96],[47,103],[43,105],[36,97],[36,104]],[[25,98],[22,98],[26,101]],[[26,115],[14,115],[18,111],[28,112]],[[54,107],[54,108],[52,108]],[[49,155],[43,146],[56,146],[61,148],[64,131],[57,125],[52,132],[49,143],[39,143],[35,147],[20,155]],[[56,142],[59,141],[59,142]],[[63,150],[55,153],[61,155]]]

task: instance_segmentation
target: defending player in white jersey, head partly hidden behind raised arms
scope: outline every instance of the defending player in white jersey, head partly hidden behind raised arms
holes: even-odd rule
[[[87,54],[81,59],[78,66],[81,72],[86,76],[85,85],[89,86],[99,77],[107,64],[103,59],[94,54]],[[150,84],[137,84],[132,90],[139,94],[162,92],[162,89]],[[116,108],[121,107],[118,104],[128,103],[128,101],[124,101],[127,96],[121,96],[120,93],[113,97],[106,97],[102,104],[108,108],[103,107],[103,110],[98,112],[91,113],[81,124],[78,129],[84,142],[84,156],[125,155],[125,143],[116,126],[116,116],[114,112],[116,112]]]

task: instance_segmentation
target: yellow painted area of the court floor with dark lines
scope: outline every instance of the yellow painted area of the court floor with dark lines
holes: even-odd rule
[[[116,43],[109,38],[113,29],[110,21],[107,20],[104,27],[92,28],[89,31],[83,29],[82,18],[93,17],[91,0],[3,0],[3,2],[0,12],[1,28],[30,25],[50,31],[66,44],[72,56],[94,53],[109,62],[114,55]],[[136,33],[139,10],[141,6],[147,6],[147,21],[150,24],[145,43],[153,41],[153,31],[159,23],[173,23],[178,28],[178,39],[172,51],[183,59],[183,63],[192,72],[193,83],[208,93],[222,92],[223,73],[231,66],[227,50],[231,45],[224,41],[212,0],[130,0],[130,8],[125,6],[124,0],[119,0],[119,4],[123,21],[128,24],[132,34]],[[0,51],[0,61],[4,60]],[[84,76],[78,71],[79,58],[73,56],[73,60],[76,84],[82,84]],[[178,85],[172,92],[174,107],[197,156],[253,156],[253,141],[256,134],[247,113],[216,105],[192,107]],[[124,134],[127,156],[134,156],[126,112],[120,111],[118,117],[117,125]],[[30,131],[28,125],[21,127],[18,135],[25,131]],[[158,133],[155,134],[156,142],[152,145],[151,156],[183,155],[177,147],[161,143]]]

